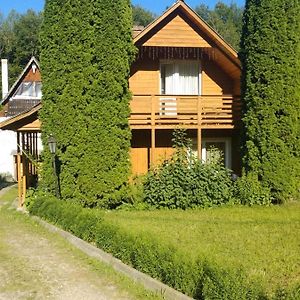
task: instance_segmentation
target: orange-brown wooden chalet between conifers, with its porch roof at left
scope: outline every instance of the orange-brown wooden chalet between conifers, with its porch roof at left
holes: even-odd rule
[[[216,147],[225,165],[239,174],[241,68],[236,51],[183,1],[146,28],[137,28],[134,44],[138,55],[129,79],[133,174],[146,173],[172,154],[172,132],[178,127],[187,129],[195,155],[205,161]],[[26,134],[40,130],[40,107],[0,128],[19,132],[26,148],[31,143]]]

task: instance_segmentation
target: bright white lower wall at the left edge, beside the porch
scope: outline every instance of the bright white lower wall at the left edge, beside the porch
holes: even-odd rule
[[[0,122],[7,118],[0,118]],[[14,176],[13,155],[17,152],[17,133],[9,130],[0,130],[0,174]]]

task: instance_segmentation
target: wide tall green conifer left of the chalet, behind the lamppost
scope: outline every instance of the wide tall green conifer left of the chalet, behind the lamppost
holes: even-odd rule
[[[47,139],[58,145],[63,198],[99,206],[127,182],[129,0],[47,0],[41,33],[43,182],[53,188]],[[113,205],[113,204],[111,204]]]

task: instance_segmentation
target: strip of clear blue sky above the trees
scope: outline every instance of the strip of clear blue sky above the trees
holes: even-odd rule
[[[112,0],[113,1],[113,0]],[[172,5],[176,0],[132,0],[133,4],[139,4],[142,7],[156,13],[161,14],[167,6]],[[44,6],[44,0],[0,0],[0,12],[7,16],[7,14],[15,9],[19,13],[23,13],[28,9],[41,11]],[[194,8],[195,6],[205,3],[209,7],[214,7],[218,0],[186,0],[189,6]],[[237,3],[239,6],[244,5],[244,0],[222,0],[226,4]]]

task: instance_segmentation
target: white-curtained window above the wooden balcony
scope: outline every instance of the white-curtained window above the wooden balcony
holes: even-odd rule
[[[200,63],[167,61],[160,66],[162,95],[200,95]]]

